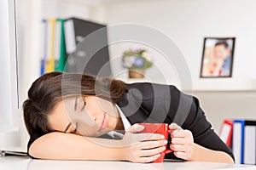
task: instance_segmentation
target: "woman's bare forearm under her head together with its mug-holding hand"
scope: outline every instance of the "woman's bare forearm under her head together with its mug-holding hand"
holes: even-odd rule
[[[167,141],[160,134],[145,136],[136,133],[142,129],[133,130],[135,133],[125,133],[122,140],[88,138],[72,133],[48,133],[36,139],[28,152],[35,158],[52,160],[150,162],[157,159]]]

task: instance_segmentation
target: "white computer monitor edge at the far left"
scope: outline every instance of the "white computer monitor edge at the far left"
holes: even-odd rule
[[[0,133],[19,127],[15,0],[0,1]]]

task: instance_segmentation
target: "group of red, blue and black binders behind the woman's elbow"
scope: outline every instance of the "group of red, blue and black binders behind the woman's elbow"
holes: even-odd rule
[[[256,121],[226,119],[219,137],[232,149],[236,163],[256,165]]]

